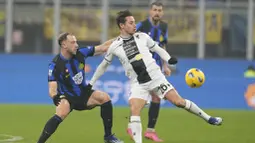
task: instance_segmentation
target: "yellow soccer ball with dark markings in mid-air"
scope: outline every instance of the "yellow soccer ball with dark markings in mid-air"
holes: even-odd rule
[[[191,68],[185,75],[185,81],[191,88],[198,88],[204,84],[205,75],[200,69]]]

